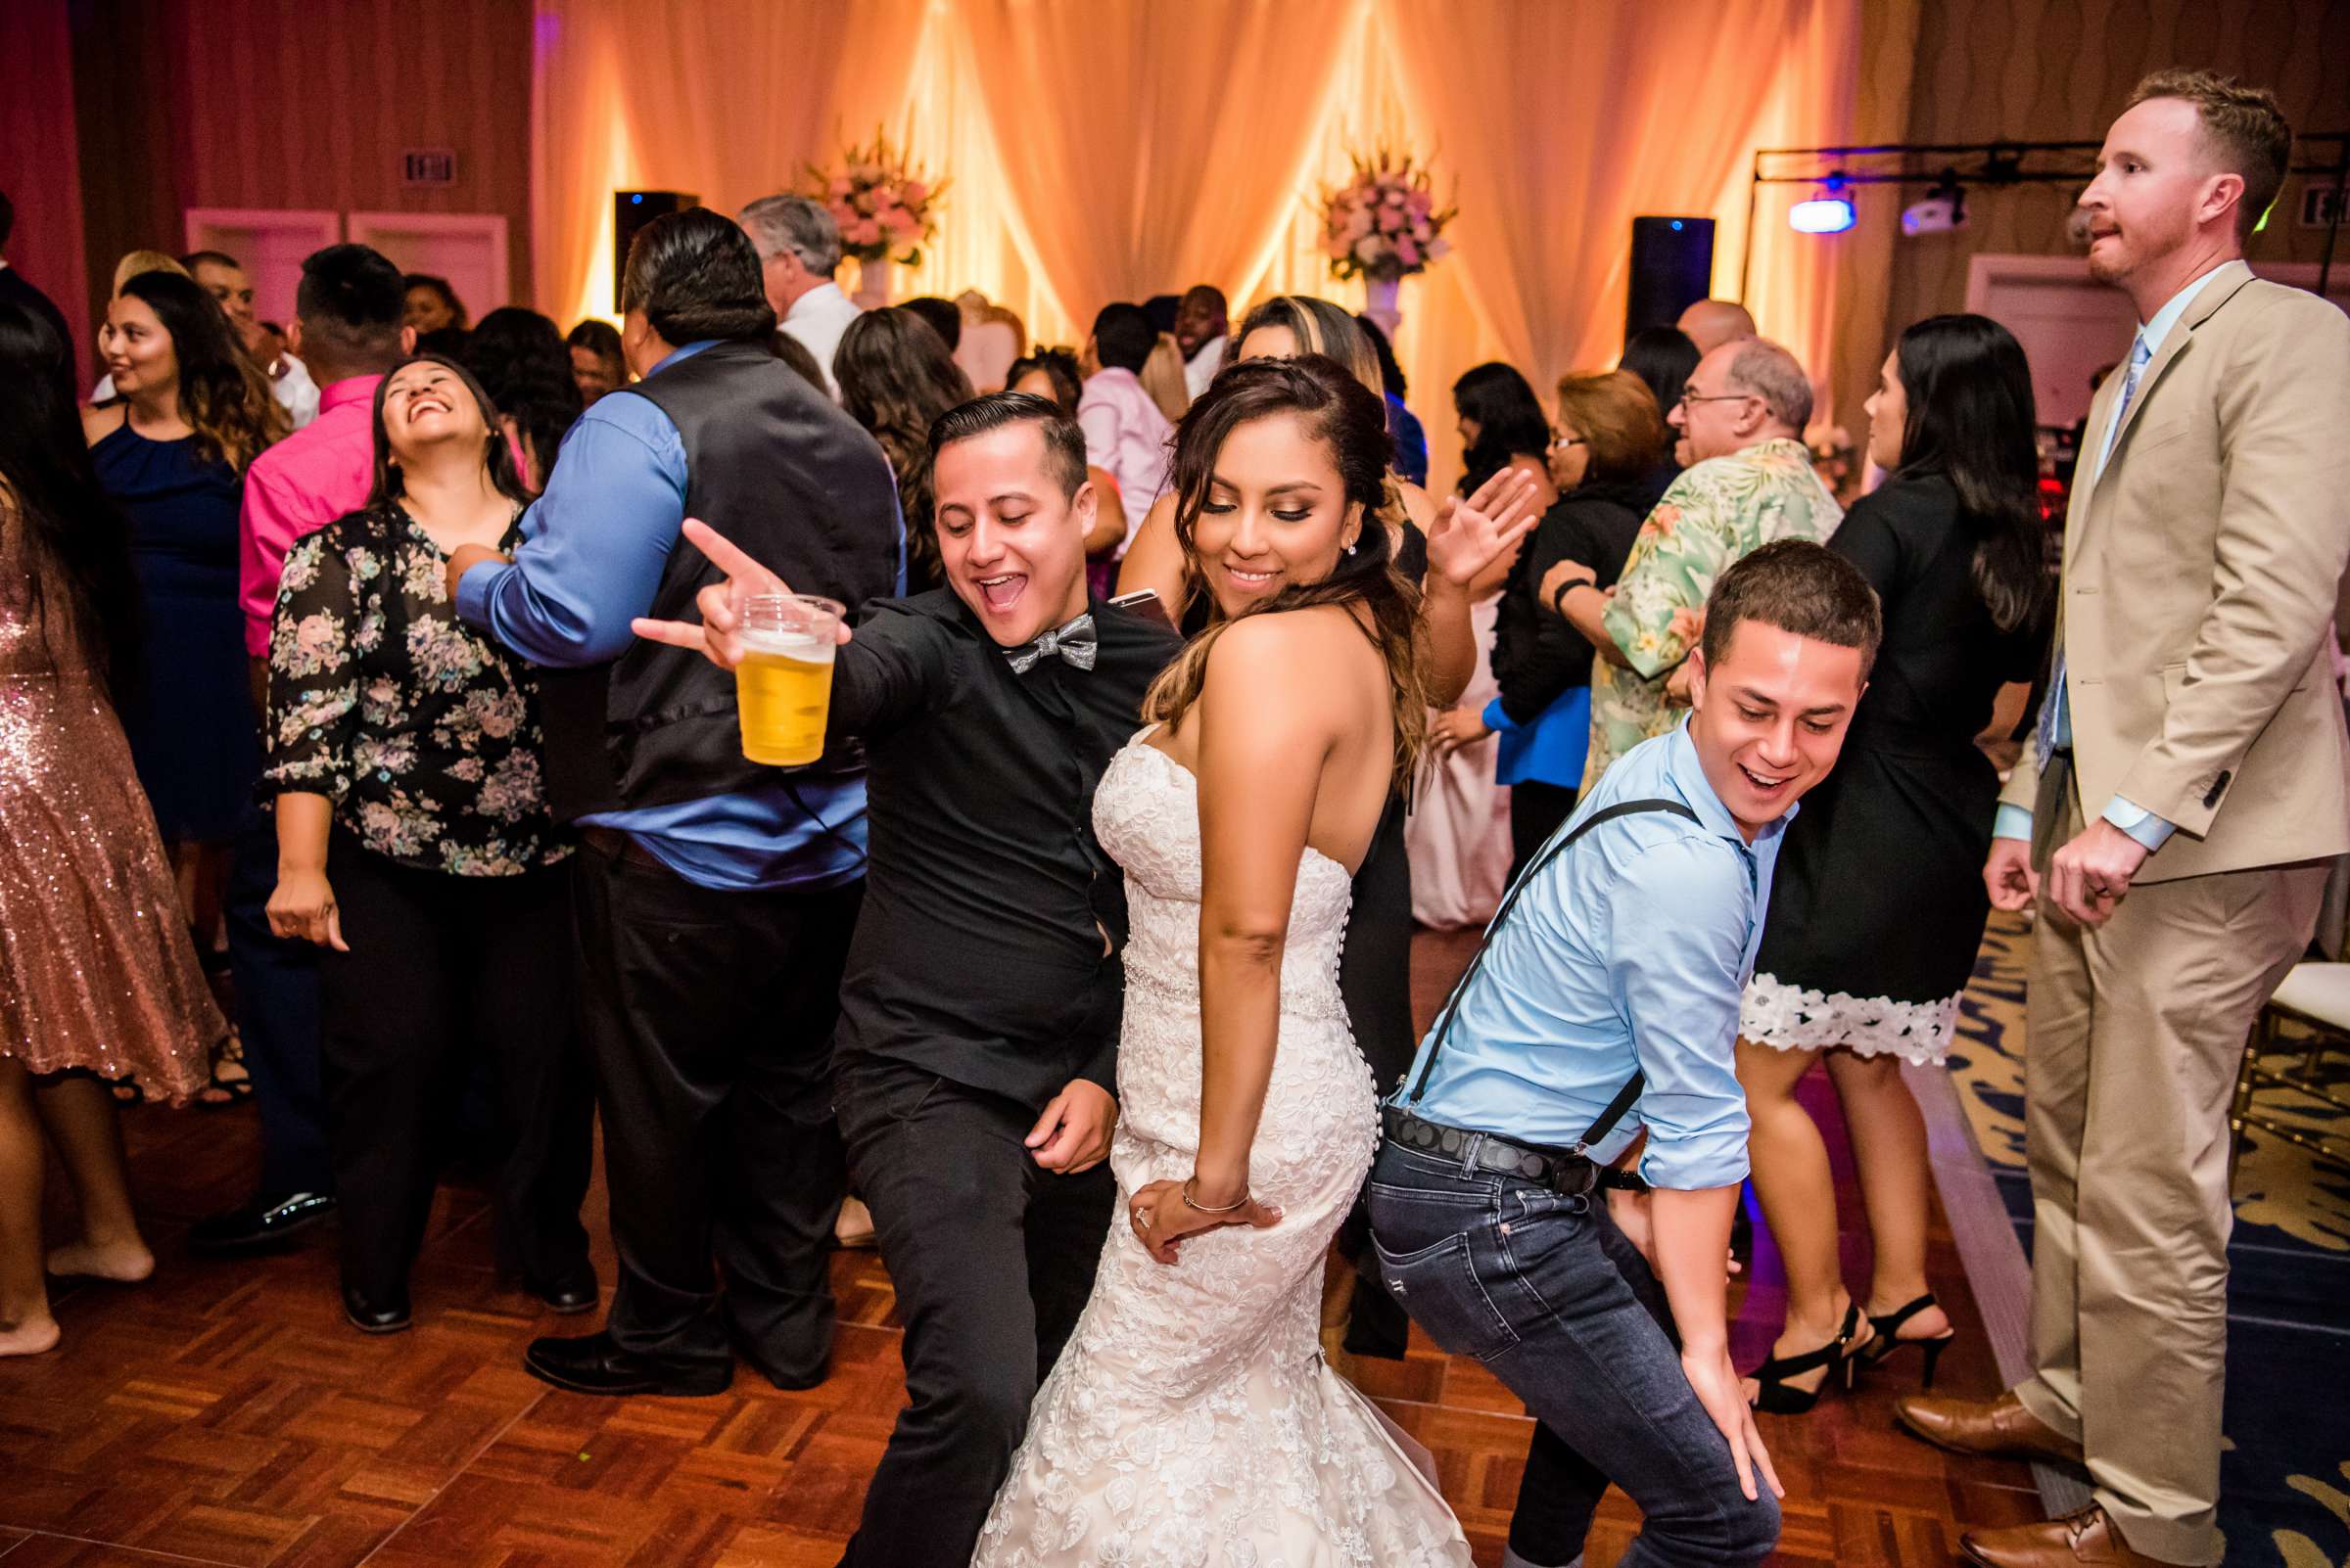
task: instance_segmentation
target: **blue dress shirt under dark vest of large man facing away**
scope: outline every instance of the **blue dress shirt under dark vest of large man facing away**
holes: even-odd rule
[[[710,343],[689,343],[677,364]],[[571,425],[545,493],[522,514],[512,563],[484,561],[456,589],[456,613],[555,669],[602,664],[634,641],[686,521],[686,444],[651,399],[599,397]],[[900,592],[905,570],[900,566]],[[865,871],[865,779],[773,772],[757,789],[674,805],[597,812],[698,887],[832,887]]]

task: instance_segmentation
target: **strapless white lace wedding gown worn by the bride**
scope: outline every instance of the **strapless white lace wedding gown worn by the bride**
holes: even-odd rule
[[[1147,732],[1144,732],[1147,735]],[[1281,1209],[1154,1263],[1126,1211],[1198,1148],[1198,805],[1135,737],[1093,798],[1126,869],[1119,1214],[1069,1347],[980,1533],[975,1568],[1466,1568],[1401,1432],[1321,1357],[1330,1237],[1379,1141],[1337,991],[1351,878],[1307,850],[1281,962],[1281,1042],[1250,1183]],[[1408,1439],[1403,1439],[1408,1441]]]

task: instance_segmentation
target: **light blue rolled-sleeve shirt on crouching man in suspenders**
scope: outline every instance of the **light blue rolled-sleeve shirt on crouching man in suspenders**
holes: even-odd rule
[[[1434,1028],[1389,1103],[1445,1127],[1570,1148],[1638,1070],[1640,1101],[1591,1157],[1614,1160],[1647,1127],[1650,1185],[1746,1178],[1739,993],[1795,810],[1748,845],[1683,723],[1617,758],[1560,833],[1619,800],[1652,798],[1680,800],[1697,822],[1619,817],[1556,857],[1492,934],[1426,1091],[1412,1099]]]

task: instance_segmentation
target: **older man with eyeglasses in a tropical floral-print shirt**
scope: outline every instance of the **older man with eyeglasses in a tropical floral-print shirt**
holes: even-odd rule
[[[1802,427],[1812,380],[1765,338],[1723,343],[1697,361],[1666,423],[1690,467],[1640,523],[1624,575],[1603,594],[1589,566],[1560,561],[1542,599],[1598,648],[1584,793],[1610,763],[1680,723],[1678,671],[1704,631],[1706,594],[1772,540],[1826,545],[1845,509],[1812,472]]]

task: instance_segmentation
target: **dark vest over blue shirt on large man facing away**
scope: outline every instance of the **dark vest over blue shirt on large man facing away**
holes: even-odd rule
[[[766,343],[717,343],[613,397],[658,406],[686,446],[686,516],[792,584],[846,606],[898,584],[898,486],[888,460]],[[562,519],[555,519],[562,526]],[[724,573],[684,540],[644,615],[700,620],[693,596]],[[564,822],[747,789],[771,768],[743,756],[736,678],[698,653],[637,641],[611,664],[545,671],[548,800]],[[862,772],[855,746],[808,777]]]

